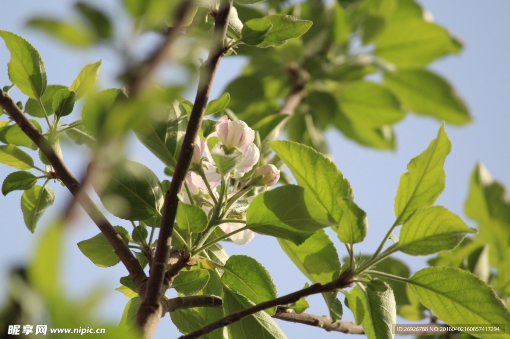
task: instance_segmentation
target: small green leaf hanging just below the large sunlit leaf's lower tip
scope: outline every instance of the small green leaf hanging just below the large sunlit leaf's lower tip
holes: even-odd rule
[[[368,232],[367,213],[351,200],[340,198],[338,204],[343,211],[338,238],[346,244],[362,242]]]

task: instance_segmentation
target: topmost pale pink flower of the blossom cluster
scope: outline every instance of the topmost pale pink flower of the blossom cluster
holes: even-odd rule
[[[216,133],[223,145],[227,148],[237,147],[243,154],[246,154],[255,138],[255,131],[244,121],[230,121],[226,116],[220,118]]]

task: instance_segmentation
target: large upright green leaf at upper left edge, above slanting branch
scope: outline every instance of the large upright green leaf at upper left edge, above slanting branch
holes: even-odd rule
[[[14,33],[0,31],[0,36],[11,51],[7,65],[9,79],[23,94],[41,98],[46,90],[46,70],[41,55],[27,40]]]

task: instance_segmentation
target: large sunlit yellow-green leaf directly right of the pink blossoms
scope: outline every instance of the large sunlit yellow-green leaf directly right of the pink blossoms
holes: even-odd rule
[[[352,189],[337,166],[324,155],[308,146],[276,141],[269,146],[289,166],[299,186],[312,192],[333,220],[340,222],[340,197],[353,200]]]

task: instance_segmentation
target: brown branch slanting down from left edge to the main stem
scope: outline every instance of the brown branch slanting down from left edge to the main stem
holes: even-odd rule
[[[77,197],[78,203],[83,207],[99,230],[108,239],[108,242],[114,248],[116,255],[120,258],[133,278],[134,283],[140,290],[147,276],[145,275],[145,272],[143,271],[142,266],[140,266],[138,260],[135,258],[129,247],[127,247],[127,244],[124,240],[122,240],[122,237],[117,233],[117,231],[115,231],[105,215],[97,208],[92,199],[90,199],[90,196],[85,192],[81,192],[80,183],[73,177],[71,172],[69,172],[67,166],[55,152],[55,149],[50,145],[48,140],[23,114],[19,107],[14,103],[14,100],[3,91],[0,91],[0,105],[2,105],[11,119],[18,124],[21,130],[27,134],[27,136],[46,156],[49,163],[52,164],[54,168],[56,177],[64,183],[73,196]]]

